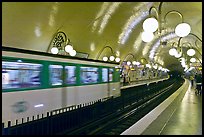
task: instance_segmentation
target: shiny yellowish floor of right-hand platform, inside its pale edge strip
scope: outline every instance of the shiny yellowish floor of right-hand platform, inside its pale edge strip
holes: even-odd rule
[[[142,135],[202,135],[202,95],[196,95],[188,82],[188,90],[170,117],[162,113]]]

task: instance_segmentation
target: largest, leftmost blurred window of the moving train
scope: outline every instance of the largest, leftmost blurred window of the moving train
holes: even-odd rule
[[[41,68],[41,64],[2,61],[2,88],[39,87]]]

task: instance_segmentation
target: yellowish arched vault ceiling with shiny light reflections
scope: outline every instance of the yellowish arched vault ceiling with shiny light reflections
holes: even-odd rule
[[[168,54],[172,43],[179,39],[174,34],[175,26],[181,22],[178,14],[169,14],[162,25],[160,38],[167,41],[166,45],[160,45],[157,33],[150,43],[141,40],[142,23],[151,6],[158,8],[159,2],[3,2],[2,45],[46,52],[53,34],[61,30],[77,52],[88,53],[91,59],[96,59],[104,46],[110,46],[121,60],[132,53],[138,61],[145,58],[168,69],[172,64],[181,69],[178,59]],[[162,20],[170,10],[179,11],[184,22],[191,25],[191,33],[202,40],[201,2],[163,2]],[[155,13],[153,10],[152,15]],[[182,38],[184,42],[191,43],[202,55],[202,42],[196,37]],[[99,59],[110,54],[107,48]],[[202,62],[201,55],[196,53]]]

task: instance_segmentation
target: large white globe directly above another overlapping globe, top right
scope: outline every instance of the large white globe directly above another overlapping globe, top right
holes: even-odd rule
[[[159,26],[159,23],[155,18],[147,18],[143,22],[143,29],[146,32],[155,32],[158,26]]]

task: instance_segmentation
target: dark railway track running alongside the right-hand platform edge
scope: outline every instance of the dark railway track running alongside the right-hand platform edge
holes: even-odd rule
[[[120,135],[164,101],[181,85],[182,82],[174,82],[155,94],[146,96],[131,105],[125,106],[123,109],[117,110],[113,114],[71,131],[67,135]]]

